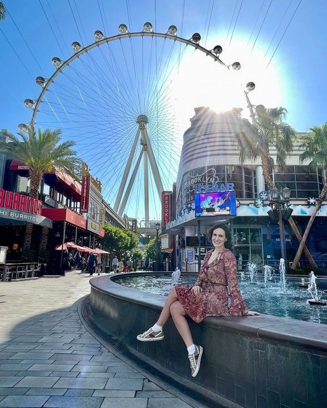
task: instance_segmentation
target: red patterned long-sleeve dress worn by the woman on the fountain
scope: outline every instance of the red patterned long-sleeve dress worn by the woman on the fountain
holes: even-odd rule
[[[192,287],[188,285],[175,287],[179,302],[197,323],[208,316],[241,316],[246,311],[246,303],[237,284],[235,256],[230,249],[226,249],[208,265],[212,252],[213,249],[206,254],[195,283],[202,289],[198,296],[192,293]]]

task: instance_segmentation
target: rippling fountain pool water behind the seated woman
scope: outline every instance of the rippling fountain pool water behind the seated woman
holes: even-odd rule
[[[193,285],[196,279],[197,274],[181,275],[179,284]],[[259,277],[258,281],[263,284],[264,277]],[[122,278],[115,276],[115,282],[143,292],[167,295],[172,280],[169,274],[148,274],[146,276],[124,275]],[[281,293],[279,276],[273,276],[267,288],[261,288],[261,285],[249,285],[248,281],[239,279],[239,287],[249,309],[273,316],[284,316],[327,325],[327,306],[309,305],[307,291],[298,287],[299,278],[287,278],[286,283],[288,296]],[[327,280],[318,281],[318,287],[326,290]]]

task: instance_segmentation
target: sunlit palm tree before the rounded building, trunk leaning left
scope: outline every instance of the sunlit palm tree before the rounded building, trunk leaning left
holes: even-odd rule
[[[252,118],[254,123],[245,122],[244,130],[235,135],[240,148],[239,159],[241,163],[244,163],[245,159],[256,160],[259,158],[264,180],[270,190],[275,187],[270,177],[275,164],[283,170],[286,167],[286,156],[293,150],[295,130],[284,122],[286,114],[287,110],[282,107],[265,108],[264,105],[257,105],[255,115]],[[276,149],[276,163],[270,156],[270,147]],[[288,222],[297,239],[301,241],[301,234],[293,218],[289,218]],[[304,252],[310,265],[317,267],[306,246]]]

